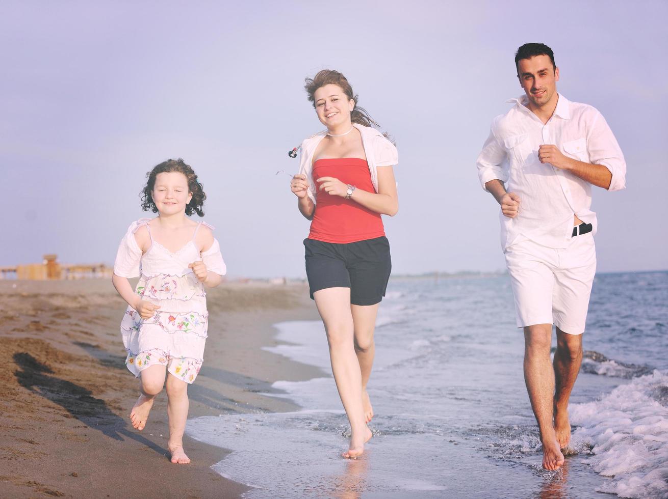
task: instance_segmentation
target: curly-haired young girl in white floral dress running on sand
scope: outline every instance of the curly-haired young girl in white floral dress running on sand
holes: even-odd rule
[[[156,395],[167,380],[168,447],[173,463],[186,464],[183,433],[188,417],[188,384],[200,368],[206,341],[204,287],[214,288],[226,272],[210,225],[203,216],[206,194],[182,159],[169,159],[148,174],[142,208],[158,216],[133,222],[114,263],[114,287],[128,302],[121,322],[128,351],[126,366],[140,378],[140,396],[130,412],[143,430]],[[136,290],[128,278],[140,276]]]

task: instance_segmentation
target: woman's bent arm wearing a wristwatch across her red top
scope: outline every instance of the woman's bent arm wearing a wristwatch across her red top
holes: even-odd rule
[[[378,193],[367,192],[362,189],[355,189],[350,199],[357,201],[363,207],[389,215],[393,217],[399,211],[399,199],[397,197],[397,184],[394,180],[394,171],[391,166],[379,166],[378,171]],[[334,177],[320,177],[315,179],[319,185],[319,189],[331,195],[338,195],[345,197],[348,186]]]

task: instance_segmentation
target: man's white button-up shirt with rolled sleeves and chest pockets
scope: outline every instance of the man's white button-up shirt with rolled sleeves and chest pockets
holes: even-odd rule
[[[477,161],[483,189],[488,181],[499,179],[508,192],[520,197],[516,217],[499,213],[502,248],[526,239],[547,247],[566,247],[573,215],[591,223],[596,233],[591,184],[550,163],[540,163],[538,147],[554,144],[568,157],[604,165],[612,173],[609,190],[623,189],[626,162],[603,115],[591,105],[570,102],[558,94],[554,114],[543,124],[526,107],[526,95],[508,102],[515,105],[492,121]]]

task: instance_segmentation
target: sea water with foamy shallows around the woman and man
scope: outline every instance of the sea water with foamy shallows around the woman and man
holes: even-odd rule
[[[507,276],[391,280],[375,333],[373,438],[349,426],[321,322],[277,324],[267,348],[322,376],[276,382],[289,413],[221,414],[188,434],[232,450],[214,466],[248,497],[668,497],[668,273],[600,274],[571,396],[572,448],[542,453]]]

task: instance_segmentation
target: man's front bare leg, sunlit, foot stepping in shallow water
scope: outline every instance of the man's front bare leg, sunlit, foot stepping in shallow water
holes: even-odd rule
[[[540,430],[542,466],[546,470],[558,470],[564,464],[564,455],[556,440],[552,420],[554,369],[550,362],[550,346],[552,324],[534,324],[524,328],[524,381]]]

